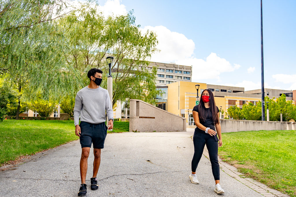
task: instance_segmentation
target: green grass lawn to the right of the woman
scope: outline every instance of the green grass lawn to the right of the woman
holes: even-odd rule
[[[223,133],[219,156],[239,172],[296,196],[296,131]]]

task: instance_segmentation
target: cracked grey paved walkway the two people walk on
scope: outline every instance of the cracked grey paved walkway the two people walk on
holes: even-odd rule
[[[283,196],[263,184],[241,178],[234,167],[221,161],[221,185],[226,194],[216,194],[207,157],[202,157],[197,168],[200,184],[192,184],[188,177],[194,151],[192,135],[192,131],[108,134],[97,191],[90,190],[94,156],[89,157],[87,196],[262,196],[255,190],[264,196]],[[79,141],[74,141],[1,171],[0,195],[77,196],[80,154]],[[204,154],[207,156],[206,150]]]

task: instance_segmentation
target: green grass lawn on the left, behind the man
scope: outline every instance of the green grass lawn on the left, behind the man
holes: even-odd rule
[[[128,122],[114,122],[113,133],[128,130]],[[77,139],[74,121],[4,120],[0,122],[0,166]]]

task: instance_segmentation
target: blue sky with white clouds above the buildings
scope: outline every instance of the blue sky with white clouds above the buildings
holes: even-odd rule
[[[192,65],[192,81],[261,88],[260,0],[98,0],[108,12],[134,10],[136,23],[157,32],[151,61]],[[266,88],[296,89],[296,1],[263,0]]]

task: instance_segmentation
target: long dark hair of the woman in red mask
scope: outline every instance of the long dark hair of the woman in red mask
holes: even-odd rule
[[[214,100],[214,95],[213,95],[212,91],[210,91],[209,89],[205,89],[204,91],[202,91],[202,93],[205,92],[206,90],[207,90],[207,92],[209,92],[210,111],[212,112],[213,122],[214,122],[214,124],[216,124],[219,122],[219,117],[218,117],[218,110],[217,110],[215,100]],[[205,103],[202,101],[202,96],[200,96],[200,104],[198,105],[198,116],[202,121],[205,122],[208,115],[209,114],[207,113],[207,111],[205,109]]]

